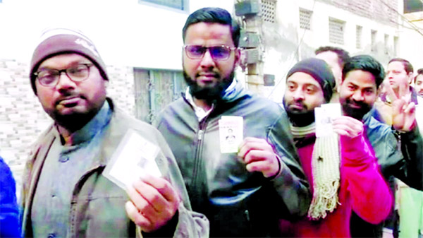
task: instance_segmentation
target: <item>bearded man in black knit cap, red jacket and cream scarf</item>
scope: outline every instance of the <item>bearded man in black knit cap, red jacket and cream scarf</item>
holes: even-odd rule
[[[351,210],[377,223],[391,208],[388,186],[364,140],[362,122],[338,116],[331,118],[333,133],[317,133],[321,122],[315,121],[314,111],[336,107],[324,105],[334,83],[331,69],[321,59],[305,59],[288,72],[283,107],[313,198],[307,218],[280,221],[283,236],[350,237]]]

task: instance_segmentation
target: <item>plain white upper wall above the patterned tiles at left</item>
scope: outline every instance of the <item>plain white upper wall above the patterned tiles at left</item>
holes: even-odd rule
[[[189,11],[230,0],[190,0]],[[108,65],[181,69],[182,28],[189,13],[137,0],[3,0],[0,58],[29,62],[43,29],[65,26],[85,32]]]

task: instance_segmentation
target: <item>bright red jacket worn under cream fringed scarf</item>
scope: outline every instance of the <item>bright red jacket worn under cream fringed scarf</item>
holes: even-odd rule
[[[313,184],[312,152],[314,143],[298,148],[301,165],[309,184]],[[351,210],[371,223],[383,221],[392,205],[392,194],[379,172],[376,158],[362,136],[341,136],[341,186],[339,204],[324,219],[303,218],[297,222],[281,220],[283,236],[350,237]]]

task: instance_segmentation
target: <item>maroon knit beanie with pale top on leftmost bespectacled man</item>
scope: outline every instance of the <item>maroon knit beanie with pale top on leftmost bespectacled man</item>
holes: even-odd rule
[[[94,46],[94,43],[78,30],[68,28],[52,28],[43,32],[39,44],[32,54],[30,64],[30,79],[32,90],[37,95],[35,88],[35,72],[37,72],[39,65],[46,59],[59,54],[80,54],[92,61],[104,80],[109,81],[106,72],[106,65],[102,57]]]

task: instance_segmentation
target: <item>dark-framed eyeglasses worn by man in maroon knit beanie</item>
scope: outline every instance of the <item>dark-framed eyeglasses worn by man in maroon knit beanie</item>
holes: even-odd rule
[[[42,69],[34,73],[39,84],[45,87],[54,87],[59,83],[61,73],[66,73],[69,79],[73,82],[85,81],[90,76],[90,67],[93,64],[76,64],[68,69]]]

